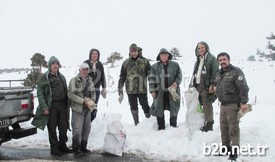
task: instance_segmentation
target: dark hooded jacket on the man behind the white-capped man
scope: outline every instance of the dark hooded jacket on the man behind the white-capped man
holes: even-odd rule
[[[90,72],[89,76],[93,78],[94,86],[96,88],[96,91],[99,91],[99,87],[102,86],[102,88],[106,88],[106,77],[105,77],[105,72],[104,72],[104,66],[103,64],[99,61],[100,58],[100,52],[97,49],[91,49],[89,53],[89,58],[91,58],[92,52],[97,51],[98,53],[98,60],[96,62],[96,71],[93,71],[93,63],[91,62],[91,59],[88,59],[84,61],[87,63],[90,67]]]

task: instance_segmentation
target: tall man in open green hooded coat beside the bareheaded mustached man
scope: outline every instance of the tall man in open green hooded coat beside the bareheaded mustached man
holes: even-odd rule
[[[193,71],[191,85],[199,92],[199,100],[205,113],[205,124],[201,131],[208,132],[213,130],[213,106],[216,100],[214,95],[215,76],[219,69],[216,57],[210,53],[206,42],[199,42],[195,49],[197,61]],[[193,85],[192,85],[193,84]]]

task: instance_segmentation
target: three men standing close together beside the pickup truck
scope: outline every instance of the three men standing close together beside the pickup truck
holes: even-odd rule
[[[79,73],[70,80],[67,87],[66,79],[59,71],[61,64],[52,56],[48,70],[38,81],[39,105],[32,124],[42,130],[47,126],[52,155],[62,156],[63,153],[74,152],[75,155],[82,156],[91,153],[87,149],[91,122],[96,118],[100,94],[104,98],[107,94],[104,67],[99,58],[99,50],[91,49],[89,59],[79,66]],[[71,128],[70,107],[72,149],[66,145],[67,131]]]

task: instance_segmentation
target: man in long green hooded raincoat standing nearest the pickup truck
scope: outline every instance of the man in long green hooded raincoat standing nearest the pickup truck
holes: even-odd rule
[[[66,146],[70,116],[67,83],[59,72],[61,65],[55,56],[50,58],[48,64],[48,71],[42,75],[37,84],[39,105],[32,124],[41,130],[47,125],[51,154],[61,156],[62,152],[72,152],[72,149]],[[56,133],[57,127],[59,139]]]

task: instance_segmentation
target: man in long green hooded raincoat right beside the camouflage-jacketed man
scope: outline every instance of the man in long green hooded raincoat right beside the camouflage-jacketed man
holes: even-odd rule
[[[157,56],[157,63],[151,67],[149,91],[154,99],[150,113],[157,117],[158,130],[165,129],[164,110],[170,111],[170,126],[177,127],[177,115],[180,109],[180,97],[173,99],[169,87],[180,96],[182,71],[177,62],[171,61],[172,55],[162,48]]]

